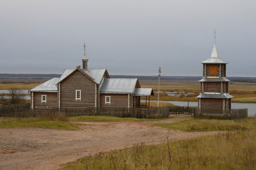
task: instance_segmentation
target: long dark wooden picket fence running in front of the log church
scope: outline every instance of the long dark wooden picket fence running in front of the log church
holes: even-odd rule
[[[169,108],[85,108],[85,109],[20,109],[20,108],[0,108],[0,117],[38,117],[41,115],[52,115],[61,113],[67,117],[72,116],[115,116],[134,117],[139,119],[159,119],[169,117]]]

